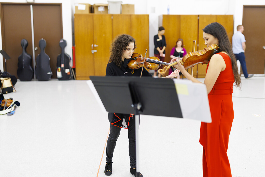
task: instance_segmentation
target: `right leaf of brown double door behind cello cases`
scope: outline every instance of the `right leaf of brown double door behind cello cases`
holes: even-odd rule
[[[35,60],[40,53],[39,40],[46,41],[45,53],[50,57],[52,78],[56,77],[57,56],[61,53],[59,41],[63,38],[61,4],[33,5]],[[71,45],[71,44],[68,44]],[[36,48],[37,47],[37,48]]]

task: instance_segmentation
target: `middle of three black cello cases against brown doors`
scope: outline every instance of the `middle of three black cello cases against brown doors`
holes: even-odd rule
[[[50,67],[50,57],[45,53],[45,39],[39,40],[39,48],[41,53],[36,58],[36,78],[39,81],[47,81],[51,79],[52,72]]]

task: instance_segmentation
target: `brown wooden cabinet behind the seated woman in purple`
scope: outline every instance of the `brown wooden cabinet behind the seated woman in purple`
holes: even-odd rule
[[[195,50],[203,50],[206,45],[202,38],[202,29],[213,22],[218,22],[227,31],[230,42],[233,36],[233,15],[161,15],[159,25],[165,28],[166,58],[170,62],[170,51],[176,45],[178,38],[183,39],[187,53],[192,52],[193,40],[196,40]],[[205,77],[207,64],[197,64],[193,69],[193,76]],[[188,69],[190,72],[191,69]]]

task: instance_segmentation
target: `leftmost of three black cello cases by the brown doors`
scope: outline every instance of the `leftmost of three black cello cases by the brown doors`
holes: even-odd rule
[[[32,56],[27,53],[28,41],[21,40],[22,54],[18,57],[17,77],[20,81],[30,81],[33,78],[34,71],[32,67]]]

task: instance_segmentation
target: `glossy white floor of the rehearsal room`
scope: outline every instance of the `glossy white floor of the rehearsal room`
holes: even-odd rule
[[[233,93],[228,157],[233,177],[261,177],[265,77],[241,79],[241,90]],[[108,117],[85,80],[18,81],[15,88],[4,97],[21,105],[12,116],[0,115],[1,177],[105,176]],[[139,133],[143,176],[202,177],[199,121],[141,115]],[[127,129],[122,129],[111,176],[133,176],[129,169]]]

